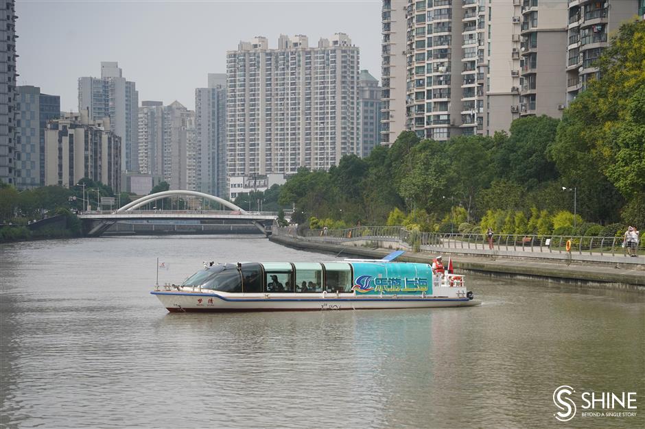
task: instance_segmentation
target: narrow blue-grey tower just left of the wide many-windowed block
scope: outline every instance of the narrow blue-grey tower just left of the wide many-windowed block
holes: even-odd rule
[[[218,197],[226,189],[226,74],[209,73],[195,90],[196,191]]]

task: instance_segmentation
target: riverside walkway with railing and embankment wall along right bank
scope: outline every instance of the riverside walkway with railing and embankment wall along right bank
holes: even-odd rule
[[[430,263],[434,256],[443,254],[444,259],[451,256],[454,266],[465,271],[645,293],[645,258],[642,254],[626,256],[620,238],[496,236],[493,249],[489,249],[489,243],[479,234],[419,237],[405,228],[361,228],[360,233],[353,229],[354,234],[349,230],[305,230],[296,234],[295,228],[274,228],[270,240],[349,257],[381,258],[392,249],[403,249],[408,252],[400,259],[408,262]],[[572,241],[570,252],[566,250],[567,241]],[[642,247],[639,249],[643,252]]]

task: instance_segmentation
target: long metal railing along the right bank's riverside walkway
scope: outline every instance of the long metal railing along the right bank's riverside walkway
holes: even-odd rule
[[[491,240],[485,234],[419,232],[403,227],[361,226],[344,230],[304,230],[274,228],[273,234],[294,236],[307,241],[344,243],[351,241],[390,241],[414,250],[457,253],[490,254],[490,252],[532,254],[532,256],[627,256],[628,248],[622,237],[555,236],[535,234],[494,234]],[[567,243],[569,249],[567,249]],[[642,256],[645,246],[635,243],[632,252]],[[640,262],[640,258],[634,261]]]

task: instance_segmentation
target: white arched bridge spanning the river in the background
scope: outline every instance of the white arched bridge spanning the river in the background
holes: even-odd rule
[[[222,206],[231,210],[137,210],[141,206],[146,206],[159,199],[174,196],[185,197],[198,197],[215,201]],[[218,219],[222,221],[230,221],[238,224],[240,221],[255,225],[264,234],[270,234],[269,225],[277,219],[275,212],[249,212],[241,207],[226,201],[215,195],[209,195],[197,191],[162,191],[152,195],[145,195],[130,204],[119,208],[112,212],[86,212],[78,215],[84,223],[89,223],[89,228],[86,228],[88,235],[99,236],[105,232],[111,225],[117,221],[132,221],[132,220],[209,220]]]

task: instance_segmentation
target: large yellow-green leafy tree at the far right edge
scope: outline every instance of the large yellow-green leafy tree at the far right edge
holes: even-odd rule
[[[570,103],[549,147],[589,219],[614,221],[625,200],[645,193],[644,62],[645,21],[624,23],[598,62],[600,79]]]

